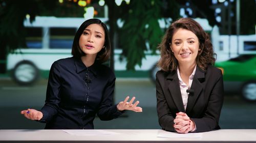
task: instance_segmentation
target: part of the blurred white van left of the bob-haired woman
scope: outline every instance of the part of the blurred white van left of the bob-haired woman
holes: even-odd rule
[[[106,18],[99,18],[106,21]],[[48,78],[54,61],[71,56],[75,33],[84,18],[36,17],[27,28],[27,47],[18,48],[7,56],[7,70],[19,84],[31,84],[38,77]]]

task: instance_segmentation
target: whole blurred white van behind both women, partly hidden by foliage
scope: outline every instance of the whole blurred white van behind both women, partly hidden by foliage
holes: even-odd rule
[[[108,18],[99,18],[107,21]],[[29,19],[24,21],[27,28],[27,47],[19,48],[14,53],[7,56],[7,70],[12,78],[19,84],[28,85],[34,83],[38,77],[48,78],[52,63],[58,59],[71,56],[71,48],[75,33],[84,18],[56,18],[56,17],[36,17],[30,23]],[[204,30],[211,32],[212,27],[206,19],[196,18],[202,24]],[[167,28],[169,20],[160,19],[160,27]],[[118,24],[122,25],[119,21]],[[117,40],[117,39],[115,39]],[[145,51],[145,59],[142,59],[142,66],[136,66],[136,71],[126,70],[126,60],[119,60],[121,49],[117,45],[114,48],[114,67],[117,77],[151,78],[154,80],[155,68],[160,58],[152,55],[150,51]]]

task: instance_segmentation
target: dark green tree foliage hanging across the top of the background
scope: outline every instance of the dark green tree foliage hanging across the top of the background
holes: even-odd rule
[[[142,59],[145,59],[145,51],[156,53],[163,36],[158,20],[160,18],[176,20],[180,17],[180,6],[184,6],[187,2],[194,8],[196,17],[207,18],[212,26],[218,24],[214,10],[209,8],[210,1],[131,0],[129,5],[123,1],[120,7],[114,1],[105,1],[109,7],[111,38],[113,41],[114,33],[118,33],[120,46],[118,48],[123,49],[122,58],[127,60],[127,69],[134,70],[136,65],[141,66]],[[96,3],[98,0],[92,0],[90,5]],[[241,1],[241,34],[255,32],[255,8],[254,0]],[[77,2],[68,0],[63,1],[62,4],[58,0],[0,0],[0,48],[2,50],[0,60],[5,60],[5,53],[26,46],[26,31],[23,25],[26,14],[30,15],[32,21],[35,15],[82,17],[83,12],[83,7],[79,7]],[[116,25],[116,20],[119,18],[124,22],[120,29]]]

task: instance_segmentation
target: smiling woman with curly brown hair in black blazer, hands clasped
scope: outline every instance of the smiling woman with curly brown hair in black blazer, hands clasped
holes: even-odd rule
[[[191,18],[180,18],[159,45],[156,74],[159,124],[163,130],[188,133],[220,129],[223,77],[215,64],[207,33]]]

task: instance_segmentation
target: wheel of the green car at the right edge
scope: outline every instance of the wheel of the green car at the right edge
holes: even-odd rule
[[[243,85],[242,96],[247,101],[256,101],[256,81],[248,81]]]

